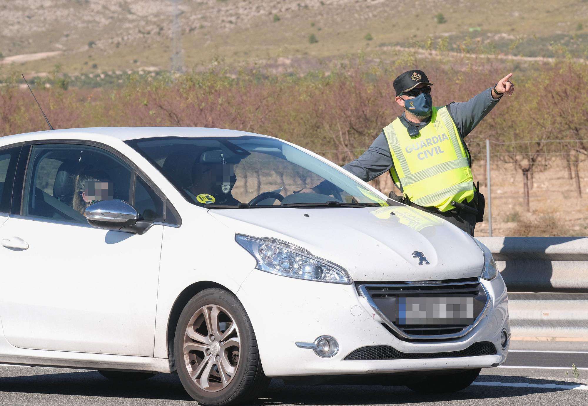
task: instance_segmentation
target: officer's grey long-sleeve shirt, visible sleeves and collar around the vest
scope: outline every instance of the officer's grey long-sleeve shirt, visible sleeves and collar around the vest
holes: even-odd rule
[[[467,100],[467,102],[451,103],[447,106],[449,114],[452,117],[459,135],[462,140],[478,125],[478,123],[486,117],[486,115],[496,106],[500,99],[492,98],[492,88],[484,90],[479,95]],[[404,120],[403,124],[407,127],[405,114],[402,113]],[[429,119],[415,125],[419,130],[421,127],[427,125]],[[369,180],[375,179],[392,168],[392,156],[390,155],[390,148],[384,132],[380,132],[372,146],[368,148],[358,159],[352,160],[343,168],[359,177],[359,179]],[[320,186],[320,185],[319,185]]]

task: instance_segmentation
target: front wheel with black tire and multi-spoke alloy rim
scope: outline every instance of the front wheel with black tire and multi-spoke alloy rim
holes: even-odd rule
[[[243,404],[268,387],[249,316],[229,291],[196,294],[179,317],[173,347],[180,381],[199,404]]]

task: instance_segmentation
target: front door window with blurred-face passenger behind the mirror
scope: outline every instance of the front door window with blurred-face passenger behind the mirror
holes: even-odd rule
[[[87,145],[34,145],[25,177],[22,215],[86,223],[99,200],[129,201],[131,168],[112,153]]]

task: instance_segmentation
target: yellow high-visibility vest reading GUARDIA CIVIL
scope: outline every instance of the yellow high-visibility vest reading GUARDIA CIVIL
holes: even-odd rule
[[[474,197],[470,156],[447,106],[433,107],[431,121],[411,137],[399,118],[383,129],[393,166],[390,175],[411,202],[452,210],[452,200]]]

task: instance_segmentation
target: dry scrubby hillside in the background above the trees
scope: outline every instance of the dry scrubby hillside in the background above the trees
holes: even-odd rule
[[[557,45],[564,45],[582,56],[588,41],[588,2],[581,0],[178,0],[178,4],[188,68],[214,56],[237,62],[283,58],[287,63],[294,56],[386,53],[395,45],[446,46],[457,51],[482,47],[486,52],[527,56],[551,56]],[[169,69],[172,13],[172,0],[3,0],[0,68],[15,63],[19,71],[49,72],[59,63],[69,73],[139,66]],[[311,35],[316,42],[310,41]],[[48,54],[14,58],[41,52]]]

